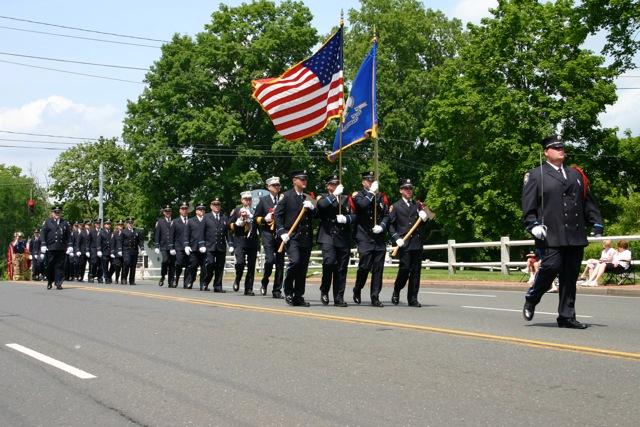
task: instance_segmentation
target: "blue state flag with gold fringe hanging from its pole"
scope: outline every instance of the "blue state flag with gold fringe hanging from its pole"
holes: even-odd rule
[[[362,61],[358,74],[351,85],[351,93],[347,99],[342,124],[342,139],[340,128],[336,131],[333,150],[329,160],[334,161],[338,154],[347,147],[355,145],[369,137],[378,136],[378,106],[376,95],[376,51],[378,43]]]

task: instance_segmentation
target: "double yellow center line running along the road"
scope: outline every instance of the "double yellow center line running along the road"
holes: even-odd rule
[[[25,284],[32,284],[32,283],[25,283]],[[37,285],[37,286],[42,286],[42,285]],[[331,320],[334,322],[354,323],[354,324],[360,324],[360,325],[387,326],[391,328],[407,329],[412,331],[431,332],[431,333],[453,335],[453,336],[459,336],[459,337],[465,337],[465,338],[475,338],[475,339],[481,339],[481,340],[487,340],[487,341],[497,341],[497,342],[503,342],[503,343],[509,343],[509,344],[524,345],[528,347],[553,349],[553,350],[559,350],[559,351],[571,351],[571,352],[588,354],[593,356],[614,357],[614,358],[621,358],[621,359],[640,362],[640,353],[630,353],[630,352],[611,350],[606,348],[563,344],[563,343],[556,343],[552,341],[530,340],[526,338],[511,337],[507,335],[485,334],[481,332],[465,331],[462,329],[439,328],[435,326],[419,325],[415,323],[389,322],[386,320],[365,319],[361,317],[336,316],[331,314],[313,313],[309,311],[299,311],[294,309],[270,308],[270,307],[261,307],[261,306],[248,305],[248,304],[236,304],[236,303],[229,303],[229,302],[222,302],[222,301],[212,301],[212,300],[206,300],[206,299],[200,299],[200,298],[161,295],[161,294],[156,294],[152,292],[130,291],[130,290],[123,290],[123,289],[97,288],[97,287],[75,286],[75,285],[70,285],[66,287],[71,289],[81,289],[81,290],[92,291],[92,292],[105,292],[105,293],[114,293],[114,294],[121,294],[121,295],[131,295],[131,296],[137,296],[137,297],[143,297],[143,298],[158,299],[163,301],[177,301],[177,302],[184,302],[187,304],[204,305],[209,307],[230,308],[230,309],[236,309],[236,310],[255,311],[255,312],[261,312],[261,313],[272,313],[272,314],[278,314],[283,316],[302,317],[307,319]]]

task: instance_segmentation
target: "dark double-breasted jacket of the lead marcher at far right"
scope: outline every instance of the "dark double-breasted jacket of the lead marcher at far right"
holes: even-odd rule
[[[587,246],[587,225],[602,224],[600,210],[585,190],[582,175],[573,168],[563,168],[566,180],[549,163],[525,174],[522,222],[527,231],[536,225],[547,226],[547,238],[536,240],[537,246]]]

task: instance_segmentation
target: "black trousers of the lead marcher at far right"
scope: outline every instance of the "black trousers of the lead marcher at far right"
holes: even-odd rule
[[[576,317],[576,280],[580,274],[580,264],[584,247],[562,246],[545,249],[533,285],[527,291],[525,299],[534,306],[540,302],[558,276],[559,302],[558,319],[575,319]]]

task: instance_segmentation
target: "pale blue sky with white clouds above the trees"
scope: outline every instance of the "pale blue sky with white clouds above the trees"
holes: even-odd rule
[[[53,24],[93,29],[105,32],[169,40],[174,33],[194,35],[210,21],[211,13],[220,2],[190,0],[144,0],[91,2],[79,0],[23,0],[3,2],[0,15],[43,21]],[[238,5],[241,1],[226,1]],[[306,0],[314,15],[314,25],[320,34],[327,33],[345,13],[357,8],[356,0]],[[448,16],[463,21],[478,22],[488,15],[496,0],[435,0],[426,2]],[[0,26],[23,28],[83,37],[118,41],[154,42],[121,39],[61,28],[0,19]],[[98,43],[42,34],[32,34],[0,28],[0,52],[41,57],[64,58],[101,64],[116,64],[146,68],[160,55],[160,49]],[[121,70],[79,64],[63,64],[30,58],[0,55],[0,61],[12,61],[37,66],[141,81],[144,71]],[[135,100],[142,85],[62,74],[26,68],[0,62],[0,131],[46,133],[79,137],[119,136],[128,99]],[[637,72],[635,74],[640,74]],[[640,86],[640,79],[625,79],[622,83]],[[632,84],[637,83],[637,84]],[[633,93],[635,92],[635,93]],[[620,100],[603,115],[606,126],[631,128],[640,134],[637,112],[640,109],[638,91],[619,92]],[[43,139],[0,132],[0,139]],[[36,145],[26,142],[0,141],[0,145]],[[38,144],[40,146],[44,144]],[[59,151],[0,147],[0,163],[17,165],[46,184],[48,168]]]

